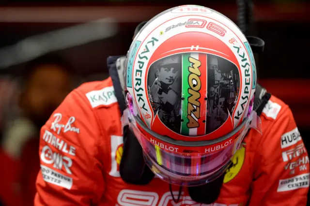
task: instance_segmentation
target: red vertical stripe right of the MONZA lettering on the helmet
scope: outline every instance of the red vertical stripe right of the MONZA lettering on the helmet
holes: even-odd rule
[[[199,99],[200,102],[200,118],[198,119],[199,127],[197,128],[197,136],[205,134],[205,121],[206,121],[206,101],[204,98],[207,94],[207,54],[199,53],[199,61],[201,62],[201,66],[199,67],[201,76],[201,89],[200,94],[201,97]]]

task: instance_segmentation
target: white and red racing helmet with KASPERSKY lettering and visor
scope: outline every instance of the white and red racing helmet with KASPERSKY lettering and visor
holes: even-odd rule
[[[255,61],[241,30],[203,6],[171,8],[135,36],[122,117],[164,181],[199,186],[224,174],[250,128]]]

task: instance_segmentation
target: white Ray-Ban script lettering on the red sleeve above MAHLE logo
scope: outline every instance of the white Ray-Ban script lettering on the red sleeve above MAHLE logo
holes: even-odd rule
[[[66,124],[60,124],[59,122],[62,120],[62,114],[56,113],[54,115],[55,119],[54,122],[52,122],[52,125],[50,127],[51,130],[54,132],[57,132],[59,134],[63,128],[63,133],[65,132],[76,132],[79,133],[79,128],[73,127],[72,124],[76,121],[75,117],[70,117]]]

